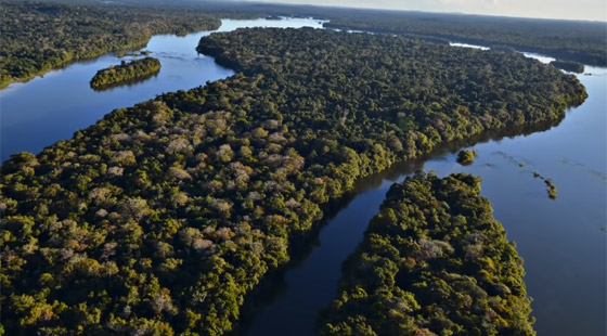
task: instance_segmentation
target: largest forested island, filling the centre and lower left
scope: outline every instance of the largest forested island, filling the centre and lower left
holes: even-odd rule
[[[7,335],[225,335],[357,179],[586,96],[521,55],[403,37],[241,29],[199,50],[240,74],[3,163]]]

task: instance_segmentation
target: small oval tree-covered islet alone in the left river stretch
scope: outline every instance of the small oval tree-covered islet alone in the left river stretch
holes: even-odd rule
[[[121,83],[132,82],[154,76],[160,72],[160,61],[144,57],[130,62],[122,61],[119,65],[112,65],[100,69],[91,79],[91,88],[103,90]]]

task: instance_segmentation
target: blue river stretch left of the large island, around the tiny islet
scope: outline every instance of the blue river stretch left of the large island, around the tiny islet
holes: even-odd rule
[[[311,18],[222,20],[216,31],[244,27],[320,28],[322,22]],[[115,53],[108,53],[0,90],[0,160],[16,152],[38,153],[59,140],[69,139],[75,131],[94,124],[114,108],[232,76],[233,70],[196,52],[199,39],[212,33],[153,36],[141,50],[148,50],[151,56],[160,60],[160,72],[137,83],[104,91],[89,87],[99,69],[120,63]],[[124,60],[129,59],[132,57]]]

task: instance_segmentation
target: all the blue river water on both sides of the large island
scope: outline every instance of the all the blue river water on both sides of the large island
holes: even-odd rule
[[[320,28],[322,23],[224,20],[219,31],[263,26]],[[154,36],[142,50],[159,59],[163,68],[156,77],[131,86],[103,92],[89,88],[98,69],[119,63],[111,53],[1,90],[1,160],[18,151],[37,153],[68,139],[113,108],[233,75],[212,57],[196,53],[199,38],[209,34]],[[550,57],[541,61],[550,62]],[[298,261],[268,286],[266,299],[257,302],[242,334],[312,335],[319,310],[337,295],[343,261],[361,241],[387,189],[423,168],[440,176],[465,171],[482,178],[482,195],[493,203],[495,218],[525,259],[539,335],[606,335],[607,233],[602,229],[607,223],[607,70],[586,67],[586,73],[592,76],[579,78],[589,99],[571,108],[557,127],[479,143],[474,146],[477,159],[468,167],[457,165],[455,153],[448,152],[359,181],[348,202],[326,219],[307,253],[296,256]],[[533,171],[553,179],[556,199],[547,197]]]

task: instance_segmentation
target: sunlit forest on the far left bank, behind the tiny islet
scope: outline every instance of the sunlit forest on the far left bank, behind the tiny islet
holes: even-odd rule
[[[141,48],[154,34],[217,29],[220,24],[192,9],[2,1],[0,88],[76,60]]]

